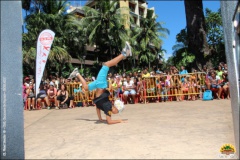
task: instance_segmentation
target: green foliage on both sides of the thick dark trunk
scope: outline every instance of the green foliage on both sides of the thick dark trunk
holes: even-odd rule
[[[223,30],[220,9],[217,12],[212,12],[210,9],[205,10],[206,22],[206,37],[209,46],[209,54],[203,57],[204,64],[211,67],[217,67],[219,62],[226,61]],[[167,64],[172,64],[177,67],[186,66],[191,70],[195,65],[192,63],[195,60],[193,53],[189,53],[188,33],[186,29],[182,29],[176,36],[177,43],[173,46],[173,56],[168,59]]]

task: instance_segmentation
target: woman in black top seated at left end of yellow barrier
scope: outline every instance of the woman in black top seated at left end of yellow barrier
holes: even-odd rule
[[[72,96],[69,97],[68,91],[66,90],[66,84],[61,84],[60,90],[57,93],[58,104],[57,104],[56,109],[65,108],[66,105],[68,106],[68,108],[72,108],[73,107],[73,99],[74,99],[74,97],[72,97]]]

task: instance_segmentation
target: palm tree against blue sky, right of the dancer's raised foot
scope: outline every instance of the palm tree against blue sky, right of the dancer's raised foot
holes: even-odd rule
[[[135,27],[132,31],[131,44],[133,44],[134,52],[139,56],[141,64],[153,62],[156,58],[158,50],[162,46],[162,40],[169,30],[162,27],[162,24],[156,22],[156,16],[153,16],[154,11],[148,10],[146,18],[141,19],[141,26]]]

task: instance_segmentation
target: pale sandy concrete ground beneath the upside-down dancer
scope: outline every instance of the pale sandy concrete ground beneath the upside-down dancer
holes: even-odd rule
[[[218,159],[235,145],[230,100],[128,104],[112,118],[128,123],[100,123],[95,107],[24,111],[25,158]]]

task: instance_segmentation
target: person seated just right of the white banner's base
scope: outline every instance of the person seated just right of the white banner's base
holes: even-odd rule
[[[41,108],[45,108],[44,102],[42,103],[42,100],[44,100],[47,104],[47,109],[50,109],[46,86],[43,83],[41,83],[39,87],[39,93],[37,94],[37,102],[41,106]]]

